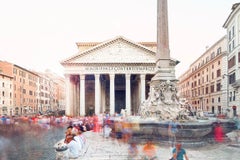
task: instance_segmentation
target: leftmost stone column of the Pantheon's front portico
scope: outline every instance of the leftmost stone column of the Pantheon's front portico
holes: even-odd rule
[[[66,115],[70,115],[71,114],[71,90],[70,90],[70,86],[71,86],[71,75],[66,74],[65,75],[65,79],[66,79],[66,106],[65,106],[65,112]]]

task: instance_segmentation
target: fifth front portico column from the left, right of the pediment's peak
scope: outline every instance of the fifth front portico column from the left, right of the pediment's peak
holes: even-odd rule
[[[125,74],[126,78],[126,111],[127,115],[131,115],[131,74]]]

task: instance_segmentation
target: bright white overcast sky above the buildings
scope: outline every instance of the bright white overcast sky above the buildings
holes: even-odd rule
[[[238,2],[168,0],[176,77],[226,34],[222,26]],[[63,75],[60,62],[78,52],[77,42],[156,42],[156,26],[157,0],[0,0],[0,60]]]

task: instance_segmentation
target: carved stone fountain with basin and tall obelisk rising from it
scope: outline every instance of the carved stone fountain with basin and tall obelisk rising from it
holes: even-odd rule
[[[175,119],[181,126],[176,133],[177,141],[184,145],[203,146],[213,139],[216,120],[199,121],[189,116],[186,108],[181,107],[175,78],[178,62],[170,58],[167,0],[158,0],[157,7],[156,74],[150,82],[148,99],[139,107],[140,116],[129,118],[132,125],[138,124],[138,129],[133,130],[133,139],[139,142],[151,137],[160,143],[167,141],[169,121]],[[225,134],[232,131],[235,125],[229,120],[222,120],[221,124]]]

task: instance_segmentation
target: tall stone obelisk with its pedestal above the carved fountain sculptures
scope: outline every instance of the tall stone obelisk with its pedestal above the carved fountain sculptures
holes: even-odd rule
[[[169,50],[167,0],[157,0],[156,74],[152,81],[175,81],[175,65]]]

